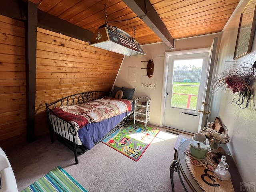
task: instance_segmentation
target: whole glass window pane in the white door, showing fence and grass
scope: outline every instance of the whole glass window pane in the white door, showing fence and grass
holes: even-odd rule
[[[196,110],[203,59],[174,60],[171,107]]]

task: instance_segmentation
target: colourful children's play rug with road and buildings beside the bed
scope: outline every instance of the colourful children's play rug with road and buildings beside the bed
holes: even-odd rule
[[[138,161],[160,130],[145,128],[142,124],[127,124],[111,133],[101,142]]]

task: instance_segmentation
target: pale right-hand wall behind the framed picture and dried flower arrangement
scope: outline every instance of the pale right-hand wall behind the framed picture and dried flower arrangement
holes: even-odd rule
[[[253,64],[256,59],[256,40],[252,51],[233,60],[240,14],[249,0],[241,0],[236,11],[228,21],[222,33],[217,73],[221,73],[239,61]],[[230,62],[230,61],[236,61]],[[251,67],[250,65],[248,65]],[[234,94],[230,90],[216,92],[213,97],[212,113],[220,116],[230,135],[228,143],[239,172],[245,182],[256,182],[256,111],[241,109],[232,102]],[[213,116],[211,116],[213,118]]]

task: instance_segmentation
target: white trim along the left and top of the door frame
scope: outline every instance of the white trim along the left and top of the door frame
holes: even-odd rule
[[[160,127],[164,126],[164,108],[165,108],[164,106],[165,106],[165,100],[166,100],[166,87],[167,87],[169,56],[204,53],[204,52],[209,52],[209,50],[210,50],[210,47],[209,48],[200,48],[200,49],[182,50],[182,51],[172,51],[172,52],[166,52],[164,54],[162,102],[161,102],[160,125],[159,125]]]

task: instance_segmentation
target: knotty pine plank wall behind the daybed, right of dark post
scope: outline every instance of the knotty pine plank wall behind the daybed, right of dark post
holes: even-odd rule
[[[48,133],[45,103],[89,90],[110,91],[123,55],[38,28],[36,136]],[[46,128],[47,127],[47,128]]]

